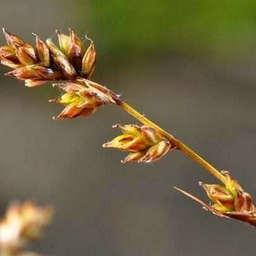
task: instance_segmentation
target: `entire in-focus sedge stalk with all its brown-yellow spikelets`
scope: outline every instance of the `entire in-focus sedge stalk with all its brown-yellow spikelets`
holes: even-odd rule
[[[121,135],[105,143],[105,148],[127,151],[121,162],[151,163],[172,151],[182,152],[199,166],[219,180],[220,184],[203,184],[208,198],[207,205],[180,188],[184,195],[200,203],[205,210],[223,218],[232,218],[256,227],[256,210],[252,197],[226,171],[220,171],[188,148],[174,135],[168,133],[153,121],[128,105],[107,87],[92,81],[96,52],[94,42],[84,47],[72,29],[69,35],[56,31],[58,46],[47,39],[43,42],[35,35],[35,46],[25,43],[16,35],[3,29],[6,45],[0,48],[1,63],[12,69],[7,76],[25,81],[27,87],[37,87],[45,82],[53,82],[53,87],[63,90],[58,99],[50,100],[64,105],[64,109],[54,119],[89,117],[103,105],[113,104],[140,121],[141,125],[113,125],[121,130]]]

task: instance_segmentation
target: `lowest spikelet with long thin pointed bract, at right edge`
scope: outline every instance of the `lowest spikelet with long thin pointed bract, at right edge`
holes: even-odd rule
[[[252,203],[252,197],[244,192],[239,183],[232,179],[227,171],[222,172],[226,178],[226,184],[210,185],[200,182],[205,189],[208,198],[213,205],[206,205],[203,201],[187,193],[180,188],[175,188],[200,203],[203,208],[217,216],[237,219],[256,227],[256,209]]]

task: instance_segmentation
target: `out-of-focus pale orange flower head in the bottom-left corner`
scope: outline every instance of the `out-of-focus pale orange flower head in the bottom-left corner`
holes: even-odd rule
[[[53,212],[51,206],[37,206],[32,201],[11,203],[0,221],[0,256],[38,255],[25,248],[42,237]]]

